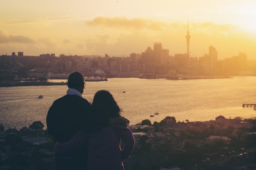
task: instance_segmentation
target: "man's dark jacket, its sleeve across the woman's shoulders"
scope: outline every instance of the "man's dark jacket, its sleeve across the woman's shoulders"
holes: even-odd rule
[[[55,100],[49,108],[46,117],[48,134],[53,136],[54,142],[65,142],[80,130],[87,131],[97,124],[109,124],[109,119],[97,118],[96,120],[93,116],[91,105],[86,99],[77,95],[65,95]],[[83,157],[86,160],[87,145],[72,153],[58,153],[58,155]]]

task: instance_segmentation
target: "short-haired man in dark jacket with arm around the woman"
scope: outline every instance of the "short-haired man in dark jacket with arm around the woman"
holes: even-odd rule
[[[49,135],[53,136],[54,142],[65,142],[70,140],[78,131],[88,130],[97,123],[109,125],[126,121],[124,118],[104,119],[93,117],[90,103],[82,97],[85,82],[79,72],[73,72],[68,77],[69,87],[67,95],[55,100],[49,108],[46,123]],[[56,155],[56,169],[86,169],[87,145],[74,149],[72,152]]]

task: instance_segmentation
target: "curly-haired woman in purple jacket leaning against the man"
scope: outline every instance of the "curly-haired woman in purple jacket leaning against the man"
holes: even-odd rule
[[[122,110],[109,91],[97,91],[92,109],[94,117],[119,117]],[[125,143],[120,147],[120,139]],[[67,152],[77,149],[88,142],[87,169],[124,170],[123,160],[127,159],[133,151],[135,140],[130,129],[120,124],[94,127],[91,132],[78,132],[67,142],[56,142],[54,151]]]

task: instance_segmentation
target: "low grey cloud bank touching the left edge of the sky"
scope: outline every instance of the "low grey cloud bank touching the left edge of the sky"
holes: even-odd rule
[[[0,29],[0,43],[35,43],[31,38],[22,35],[7,34]]]

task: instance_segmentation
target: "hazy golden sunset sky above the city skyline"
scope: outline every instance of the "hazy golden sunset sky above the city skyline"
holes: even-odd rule
[[[23,51],[129,56],[162,43],[169,54],[256,60],[255,0],[1,0],[0,55]]]

